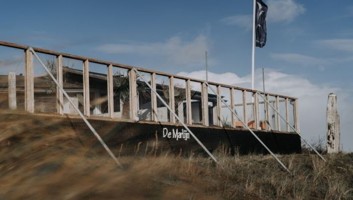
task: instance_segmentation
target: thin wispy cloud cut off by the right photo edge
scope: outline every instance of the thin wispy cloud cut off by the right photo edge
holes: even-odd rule
[[[320,46],[325,46],[333,50],[353,52],[353,39],[318,40],[316,43]]]

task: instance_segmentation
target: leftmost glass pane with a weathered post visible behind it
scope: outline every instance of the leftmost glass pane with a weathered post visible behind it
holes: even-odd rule
[[[25,109],[24,50],[0,46],[0,109]]]

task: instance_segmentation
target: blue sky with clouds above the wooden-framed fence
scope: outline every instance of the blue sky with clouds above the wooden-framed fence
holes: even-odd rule
[[[251,87],[252,0],[1,1],[0,40]],[[267,43],[255,89],[299,99],[301,133],[326,134],[335,93],[341,143],[353,151],[353,1],[264,0]],[[19,6],[21,4],[21,6]]]

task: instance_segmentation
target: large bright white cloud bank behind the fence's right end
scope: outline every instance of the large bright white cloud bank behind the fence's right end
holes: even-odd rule
[[[205,79],[205,71],[191,73],[180,72],[179,75]],[[249,88],[251,75],[240,77],[233,73],[209,73],[209,80],[213,82]],[[256,81],[257,80],[257,81]],[[299,100],[299,114],[301,132],[310,141],[313,137],[325,138],[326,134],[326,106],[329,93],[337,94],[338,108],[341,119],[341,142],[344,150],[353,150],[353,135],[351,124],[353,121],[353,107],[350,105],[353,91],[313,84],[300,75],[290,75],[267,69],[265,73],[266,91],[296,97]],[[262,90],[262,72],[255,71],[255,89]]]

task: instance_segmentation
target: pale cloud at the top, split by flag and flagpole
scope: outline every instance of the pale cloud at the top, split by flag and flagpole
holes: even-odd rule
[[[266,21],[272,22],[292,22],[298,15],[305,12],[302,4],[294,0],[268,0],[268,12]],[[234,15],[221,20],[226,25],[238,25],[246,30],[252,29],[252,15]]]

